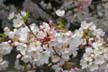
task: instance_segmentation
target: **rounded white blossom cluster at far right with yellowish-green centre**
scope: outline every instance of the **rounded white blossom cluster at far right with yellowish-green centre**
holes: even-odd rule
[[[81,28],[78,31],[82,36],[81,48],[85,48],[85,53],[80,60],[82,69],[89,68],[91,71],[97,70],[100,66],[107,66],[108,61],[108,43],[104,40],[105,32],[97,29],[91,23],[82,22]],[[105,66],[105,67],[106,67]]]

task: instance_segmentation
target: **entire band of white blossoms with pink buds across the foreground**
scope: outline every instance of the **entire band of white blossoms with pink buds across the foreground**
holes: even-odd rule
[[[13,49],[19,51],[14,68],[21,71],[44,65],[55,72],[79,70],[79,66],[72,64],[71,60],[78,58],[80,49],[85,50],[79,60],[82,69],[93,71],[107,64],[108,46],[103,38],[105,33],[92,22],[83,21],[79,30],[71,32],[59,29],[51,22],[43,22],[40,26],[36,23],[28,25],[24,20],[26,16],[27,13],[21,11],[13,12],[8,17],[14,29],[4,28],[7,39],[0,43],[0,71],[8,68],[8,60],[4,60],[3,56],[10,54]]]

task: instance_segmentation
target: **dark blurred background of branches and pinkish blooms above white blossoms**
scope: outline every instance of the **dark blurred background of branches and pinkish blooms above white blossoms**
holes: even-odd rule
[[[65,10],[62,20],[69,30],[79,28],[86,20],[108,32],[108,0],[0,0],[0,32],[12,26],[7,17],[13,11],[29,12],[29,22],[53,20],[57,24],[61,20],[55,13],[58,9]]]

